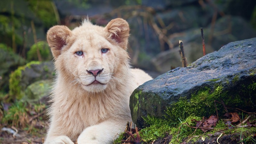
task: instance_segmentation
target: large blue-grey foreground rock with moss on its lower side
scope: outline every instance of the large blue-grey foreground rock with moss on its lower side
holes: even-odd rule
[[[186,68],[175,68],[140,85],[130,98],[132,119],[143,127],[141,117],[147,115],[209,116],[215,113],[214,100],[249,111],[256,108],[255,82],[256,38],[232,42]]]

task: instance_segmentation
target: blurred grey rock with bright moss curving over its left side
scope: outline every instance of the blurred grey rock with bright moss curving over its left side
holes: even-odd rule
[[[31,61],[25,66],[19,67],[10,75],[9,95],[12,96],[13,100],[20,100],[25,95],[25,89],[28,85],[38,80],[52,79],[53,75],[52,61]]]

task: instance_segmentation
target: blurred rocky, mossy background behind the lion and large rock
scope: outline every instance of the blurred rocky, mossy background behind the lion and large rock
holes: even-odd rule
[[[188,64],[203,56],[200,28],[206,53],[256,37],[256,0],[1,0],[0,127],[47,125],[39,119],[55,72],[46,32],[73,29],[86,17],[102,26],[127,20],[132,66],[153,77],[182,66],[179,40]]]

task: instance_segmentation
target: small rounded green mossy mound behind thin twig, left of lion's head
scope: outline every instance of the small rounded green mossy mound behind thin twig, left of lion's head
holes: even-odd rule
[[[27,53],[28,60],[39,60],[37,55],[37,49],[40,52],[41,58],[43,61],[49,61],[52,60],[52,54],[50,52],[50,48],[45,41],[37,42],[36,44],[33,44],[30,48],[30,50]]]

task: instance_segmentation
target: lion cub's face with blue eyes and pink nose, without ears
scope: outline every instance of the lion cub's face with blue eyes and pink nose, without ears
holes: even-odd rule
[[[118,47],[100,35],[90,34],[89,38],[77,39],[60,56],[65,61],[65,68],[75,77],[76,83],[86,91],[99,92],[113,78],[114,64],[118,59],[115,53],[118,53]]]

